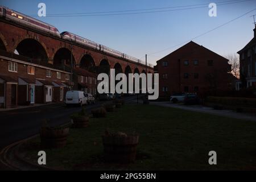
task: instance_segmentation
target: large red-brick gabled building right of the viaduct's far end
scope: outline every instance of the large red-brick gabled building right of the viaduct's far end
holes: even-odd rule
[[[231,89],[228,61],[195,42],[185,44],[157,61],[154,69],[159,73],[159,96]]]

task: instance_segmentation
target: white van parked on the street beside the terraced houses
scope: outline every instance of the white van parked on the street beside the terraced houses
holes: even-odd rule
[[[65,104],[71,105],[71,104],[79,104],[80,106],[87,104],[87,97],[86,93],[82,91],[68,91],[66,93],[65,97]]]

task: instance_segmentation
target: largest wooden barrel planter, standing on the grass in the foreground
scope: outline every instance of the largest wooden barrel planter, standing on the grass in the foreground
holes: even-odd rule
[[[102,136],[105,160],[115,163],[133,163],[139,142],[138,135],[119,137],[115,135]]]

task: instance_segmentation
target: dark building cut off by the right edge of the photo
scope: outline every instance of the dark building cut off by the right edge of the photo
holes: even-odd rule
[[[256,24],[254,38],[237,53],[240,55],[240,80],[243,88],[256,86]]]

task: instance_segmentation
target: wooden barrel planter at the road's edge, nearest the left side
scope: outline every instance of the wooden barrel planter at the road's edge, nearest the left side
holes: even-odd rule
[[[41,145],[44,148],[60,148],[67,144],[69,128],[52,129],[42,127],[40,130]]]

